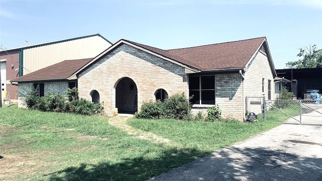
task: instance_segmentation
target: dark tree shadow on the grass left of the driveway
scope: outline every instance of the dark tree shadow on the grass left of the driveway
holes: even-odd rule
[[[165,148],[167,149],[167,148]],[[137,157],[123,159],[120,163],[111,164],[101,162],[98,164],[82,163],[78,167],[49,173],[49,180],[145,180],[151,176],[164,173],[174,167],[189,163],[197,157],[206,155],[196,149],[167,149],[163,156],[155,159]]]

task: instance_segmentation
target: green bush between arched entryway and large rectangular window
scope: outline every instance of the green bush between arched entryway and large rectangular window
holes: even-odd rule
[[[184,94],[176,94],[164,102],[143,102],[139,113],[135,113],[136,118],[143,119],[178,119],[187,120],[189,117],[189,101]],[[190,118],[189,118],[190,119]]]

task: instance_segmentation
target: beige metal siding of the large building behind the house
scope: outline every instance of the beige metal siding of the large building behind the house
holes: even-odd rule
[[[102,37],[93,36],[25,49],[24,75],[64,60],[96,57],[110,46]]]

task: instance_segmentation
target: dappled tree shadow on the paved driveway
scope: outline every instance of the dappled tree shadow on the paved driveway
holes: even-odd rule
[[[228,147],[150,180],[322,180],[322,159]]]

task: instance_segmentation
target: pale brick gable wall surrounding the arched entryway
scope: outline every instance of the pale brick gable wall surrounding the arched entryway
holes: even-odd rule
[[[159,88],[169,96],[189,95],[188,75],[183,67],[122,44],[79,74],[79,97],[91,100],[90,92],[97,90],[105,112],[111,114],[116,107],[117,83],[124,77],[136,84],[138,108],[143,101],[155,100],[154,93]]]

